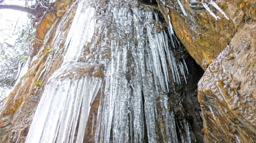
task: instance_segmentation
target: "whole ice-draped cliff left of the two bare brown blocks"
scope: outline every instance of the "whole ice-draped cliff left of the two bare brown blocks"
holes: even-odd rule
[[[156,5],[56,8],[39,23],[28,72],[1,109],[1,142],[202,142],[201,68]]]

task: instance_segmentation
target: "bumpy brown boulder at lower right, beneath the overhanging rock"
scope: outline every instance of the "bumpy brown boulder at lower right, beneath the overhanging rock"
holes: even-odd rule
[[[236,33],[198,83],[205,142],[256,141],[256,22]]]

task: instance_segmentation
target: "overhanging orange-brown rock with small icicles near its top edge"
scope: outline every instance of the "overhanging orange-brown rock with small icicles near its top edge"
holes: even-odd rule
[[[177,37],[189,54],[205,70],[230,43],[243,25],[255,19],[252,0],[157,0],[167,23],[171,22]],[[214,7],[213,2],[226,14]],[[205,6],[216,15],[217,20]],[[184,8],[184,12],[182,10]]]

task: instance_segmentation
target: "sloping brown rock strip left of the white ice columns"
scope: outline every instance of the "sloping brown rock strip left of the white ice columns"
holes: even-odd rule
[[[67,14],[63,15],[63,19],[59,23],[55,23],[60,28],[55,26],[51,28],[54,32],[46,38],[45,46],[41,45],[39,47],[36,58],[31,62],[28,72],[20,79],[20,82],[17,83],[12,93],[4,101],[4,106],[0,111],[1,143],[25,142],[47,79],[51,77],[55,70],[60,68],[62,61],[60,57],[65,54],[65,51],[56,52],[54,49],[57,48],[57,45],[61,46],[65,43],[63,37],[67,35],[75,13],[72,10],[75,8],[73,6]],[[55,45],[52,45],[50,43],[55,35],[59,35],[59,38]],[[30,61],[28,60],[28,62]],[[39,79],[40,82],[38,82]]]

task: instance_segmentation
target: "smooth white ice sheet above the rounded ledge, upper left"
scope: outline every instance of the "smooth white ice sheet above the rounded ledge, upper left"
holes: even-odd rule
[[[68,46],[67,53],[64,57],[63,64],[68,62],[77,62],[82,48],[88,43],[91,42],[94,33],[95,19],[93,19],[95,8],[88,7],[84,10],[84,5],[86,4],[85,0],[79,2],[77,8],[77,13],[67,35],[66,42],[64,44],[64,49]],[[77,28],[79,27],[79,28]],[[83,42],[81,42],[83,41]]]

